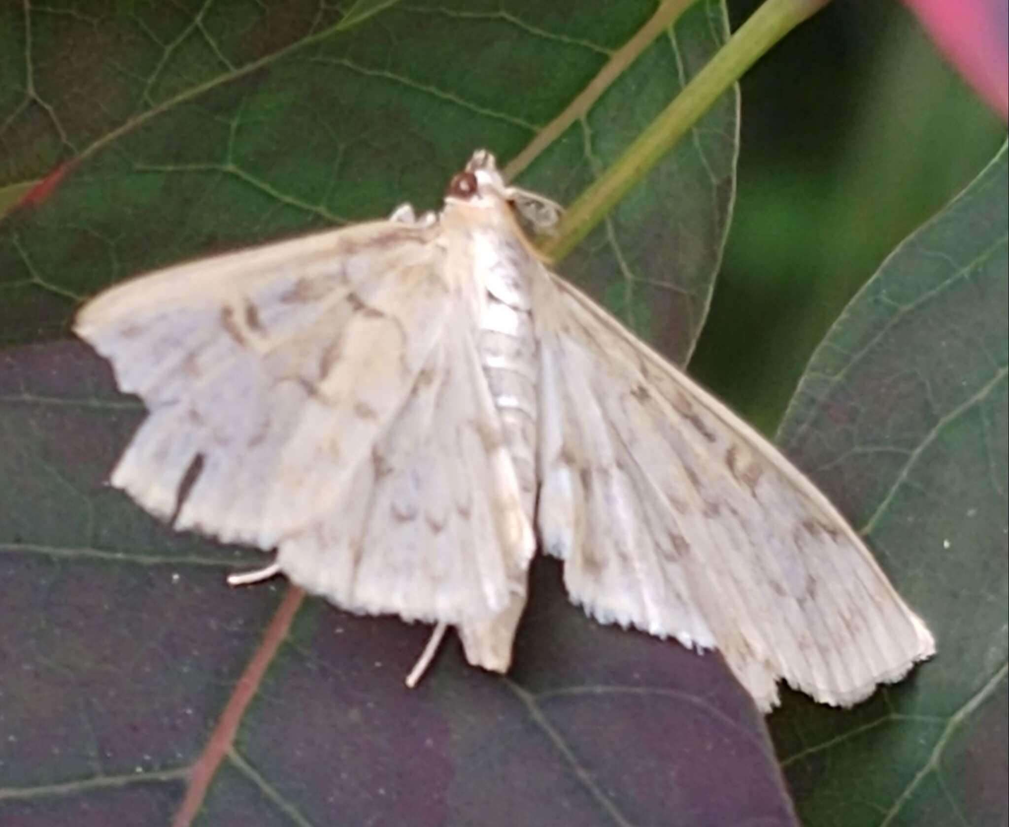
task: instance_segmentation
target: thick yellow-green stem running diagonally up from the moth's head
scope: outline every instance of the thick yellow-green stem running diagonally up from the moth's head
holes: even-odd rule
[[[829,0],[767,0],[649,124],[624,154],[564,213],[555,235],[538,240],[560,260],[588,235],[757,60]]]

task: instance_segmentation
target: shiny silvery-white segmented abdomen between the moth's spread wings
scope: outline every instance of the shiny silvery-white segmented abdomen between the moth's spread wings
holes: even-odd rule
[[[493,296],[488,297],[488,303],[489,318],[485,318],[487,324],[479,336],[480,363],[501,418],[506,445],[519,477],[523,509],[532,521],[539,380],[533,320],[528,310],[516,310]]]

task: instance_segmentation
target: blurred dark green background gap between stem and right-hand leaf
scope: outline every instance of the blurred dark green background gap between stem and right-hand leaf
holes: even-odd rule
[[[730,0],[733,28],[759,5]],[[813,349],[1005,140],[895,0],[835,0],[743,80],[739,190],[690,370],[773,434]]]

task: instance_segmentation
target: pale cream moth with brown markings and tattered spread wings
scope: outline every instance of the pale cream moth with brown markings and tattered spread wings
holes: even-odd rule
[[[849,706],[934,652],[826,498],[551,272],[474,153],[442,211],[170,267],[76,332],[149,416],[112,484],[180,529],[276,551],[344,609],[436,624],[506,672],[537,548],[601,622],[716,647],[757,705]],[[194,477],[195,481],[187,485]],[[187,478],[187,485],[184,485]]]

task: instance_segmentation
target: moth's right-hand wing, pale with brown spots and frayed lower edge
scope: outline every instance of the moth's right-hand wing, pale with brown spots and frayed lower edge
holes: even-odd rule
[[[590,613],[713,642],[765,710],[779,678],[848,706],[934,653],[856,533],[777,449],[584,294],[551,284],[544,375],[562,377],[570,408],[541,463],[548,475],[569,466],[595,503],[580,546],[557,550]],[[590,450],[579,456],[572,434]],[[549,480],[539,524],[556,535],[568,496]],[[640,500],[630,523],[628,487]]]

